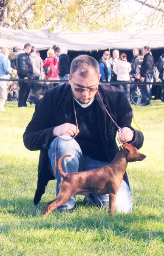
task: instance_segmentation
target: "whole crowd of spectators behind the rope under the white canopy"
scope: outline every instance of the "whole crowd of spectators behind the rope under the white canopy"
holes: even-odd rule
[[[114,49],[110,56],[110,51],[106,50],[99,60],[99,70],[101,81],[112,82],[114,86],[124,90],[129,102],[129,82],[144,82],[143,85],[140,85],[142,101],[144,105],[151,104],[151,85],[146,82],[153,82],[153,79],[156,81],[156,69],[150,47],[143,47],[141,53],[138,48],[133,49],[133,58],[130,62],[127,61],[126,53],[119,54],[119,50]],[[29,79],[30,81],[31,79],[68,80],[69,73],[69,55],[62,53],[57,45],[48,49],[47,58],[44,61],[40,57],[40,52],[37,52],[31,44],[25,44],[23,50],[13,47],[10,54],[6,47],[0,52],[0,77],[8,79],[12,76],[24,80],[19,81],[18,107],[27,107],[30,93]],[[163,57],[160,62],[159,74],[160,79],[164,81]],[[119,84],[114,84],[114,81],[118,81]],[[37,99],[33,98],[31,96],[32,102],[35,103]],[[164,101],[163,87],[161,100]]]

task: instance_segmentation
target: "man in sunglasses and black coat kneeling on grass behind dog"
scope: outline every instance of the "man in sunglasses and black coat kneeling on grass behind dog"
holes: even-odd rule
[[[54,175],[55,154],[57,162],[63,154],[71,154],[63,160],[64,172],[71,173],[104,166],[118,152],[117,130],[106,114],[98,91],[110,115],[122,128],[119,133],[121,142],[141,148],[144,137],[130,126],[133,112],[125,93],[101,84],[100,76],[98,62],[88,55],[80,55],[72,61],[69,82],[48,90],[37,102],[32,120],[23,134],[26,148],[40,150],[34,204],[40,202],[49,180],[57,179],[56,195],[59,192],[61,176],[58,169]],[[56,147],[58,135],[61,138]],[[74,138],[70,140],[71,137]],[[99,207],[108,207],[108,200],[108,194],[85,197],[85,202]],[[74,209],[75,204],[74,195],[59,210]],[[129,212],[131,209],[130,186],[125,172],[117,192],[115,210]]]

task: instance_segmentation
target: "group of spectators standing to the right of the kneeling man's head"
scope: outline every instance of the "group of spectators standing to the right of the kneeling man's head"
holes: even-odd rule
[[[158,61],[159,62],[159,61]],[[110,52],[105,51],[102,58],[99,60],[99,68],[102,81],[119,81],[116,85],[119,89],[124,90],[127,99],[130,102],[130,81],[144,82],[140,84],[142,101],[144,105],[151,104],[151,84],[146,82],[157,81],[154,58],[149,46],[143,47],[141,54],[138,48],[133,49],[133,58],[130,62],[127,61],[126,53],[122,52],[119,55],[117,49],[113,50],[112,57]],[[164,81],[164,58],[160,61],[159,78]],[[127,82],[122,84],[122,82]],[[164,101],[164,89],[161,90],[161,101]]]

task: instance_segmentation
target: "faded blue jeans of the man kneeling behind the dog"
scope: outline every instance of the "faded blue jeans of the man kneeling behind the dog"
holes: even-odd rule
[[[82,154],[81,148],[76,140],[71,139],[70,136],[63,135],[62,138],[65,140],[59,139],[57,145],[57,162],[63,154],[70,154],[71,157],[65,157],[62,161],[62,169],[66,173],[72,172],[81,172],[96,169],[108,164],[108,162],[102,162],[94,160],[88,156]],[[66,141],[67,140],[67,141]],[[51,162],[51,167],[54,170],[54,160],[55,160],[55,143],[57,137],[51,142],[50,148],[48,149],[48,157]],[[57,168],[55,178],[57,179],[56,187],[56,196],[59,193],[59,183],[61,181],[61,175]],[[122,189],[121,189],[122,188]],[[121,189],[121,190],[120,190]],[[119,188],[120,191],[117,192],[115,210],[120,212],[129,212],[132,209],[132,201],[130,189],[127,183],[123,180]],[[118,198],[118,199],[117,199]],[[86,202],[89,204],[96,204],[99,207],[108,206],[109,195],[97,195],[90,194],[85,197]],[[76,196],[72,196],[67,202],[65,202],[59,209],[71,209],[76,204]],[[116,207],[117,206],[117,207]]]

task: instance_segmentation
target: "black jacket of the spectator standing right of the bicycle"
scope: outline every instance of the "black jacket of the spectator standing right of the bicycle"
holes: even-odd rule
[[[153,70],[154,70],[154,58],[150,54],[150,52],[148,52],[146,55],[144,55],[144,59],[141,64],[140,75],[141,77],[146,78],[148,74],[153,75],[154,73]]]

